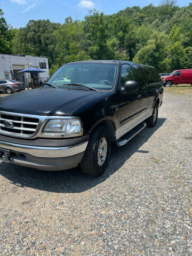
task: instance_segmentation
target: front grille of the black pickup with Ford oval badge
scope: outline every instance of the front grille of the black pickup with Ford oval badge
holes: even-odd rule
[[[0,112],[0,133],[3,134],[31,137],[35,133],[38,123],[38,118]]]

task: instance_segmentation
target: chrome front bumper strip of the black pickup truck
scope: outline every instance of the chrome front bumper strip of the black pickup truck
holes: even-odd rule
[[[59,158],[74,156],[85,151],[88,141],[68,147],[37,147],[0,141],[0,148],[18,153],[26,153],[35,157]]]

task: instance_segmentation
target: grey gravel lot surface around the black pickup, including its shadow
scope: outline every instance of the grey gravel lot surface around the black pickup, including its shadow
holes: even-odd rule
[[[192,97],[113,147],[100,178],[0,164],[0,255],[192,255]]]

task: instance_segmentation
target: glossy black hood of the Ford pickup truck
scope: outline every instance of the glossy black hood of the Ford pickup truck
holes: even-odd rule
[[[44,116],[68,116],[82,103],[102,92],[75,89],[33,89],[0,100],[0,110]]]

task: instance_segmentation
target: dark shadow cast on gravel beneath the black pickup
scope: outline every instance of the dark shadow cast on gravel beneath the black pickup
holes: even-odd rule
[[[157,125],[154,128],[142,130],[125,146],[120,148],[113,146],[107,170],[99,178],[84,175],[78,167],[67,171],[47,172],[5,162],[0,164],[0,175],[10,180],[15,186],[30,187],[54,193],[80,193],[105,181],[135,152],[148,153],[148,151],[139,150],[139,148],[163,125],[165,120],[165,118],[158,118]]]

